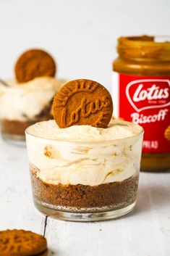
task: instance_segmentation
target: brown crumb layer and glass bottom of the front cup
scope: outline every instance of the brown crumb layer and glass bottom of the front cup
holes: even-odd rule
[[[37,177],[30,165],[35,207],[53,218],[95,221],[118,218],[135,207],[139,176],[98,186],[53,185]]]

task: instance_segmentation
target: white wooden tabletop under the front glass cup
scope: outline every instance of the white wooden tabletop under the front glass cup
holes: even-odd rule
[[[0,230],[45,234],[49,256],[169,256],[170,173],[140,173],[134,212],[116,220],[69,223],[33,206],[25,147],[0,139]],[[1,253],[0,253],[1,255]]]

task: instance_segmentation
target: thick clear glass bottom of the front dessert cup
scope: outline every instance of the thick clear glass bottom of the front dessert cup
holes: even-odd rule
[[[136,201],[127,207],[117,209],[117,210],[106,210],[101,212],[69,212],[64,210],[56,210],[49,205],[42,205],[40,202],[34,200],[35,207],[42,212],[44,215],[48,215],[51,218],[56,218],[58,220],[68,220],[77,222],[89,222],[89,221],[101,221],[101,220],[111,220],[114,218],[119,218],[122,215],[126,215],[131,212]]]

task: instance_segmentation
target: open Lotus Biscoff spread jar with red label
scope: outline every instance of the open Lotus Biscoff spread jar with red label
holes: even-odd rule
[[[170,37],[118,40],[114,115],[144,128],[142,170],[170,168]]]

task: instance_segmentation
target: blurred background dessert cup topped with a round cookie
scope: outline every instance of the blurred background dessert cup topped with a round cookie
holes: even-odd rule
[[[51,119],[51,103],[62,84],[54,78],[53,57],[41,49],[25,51],[14,67],[15,80],[0,83],[0,120],[4,139],[25,140],[25,128]]]

